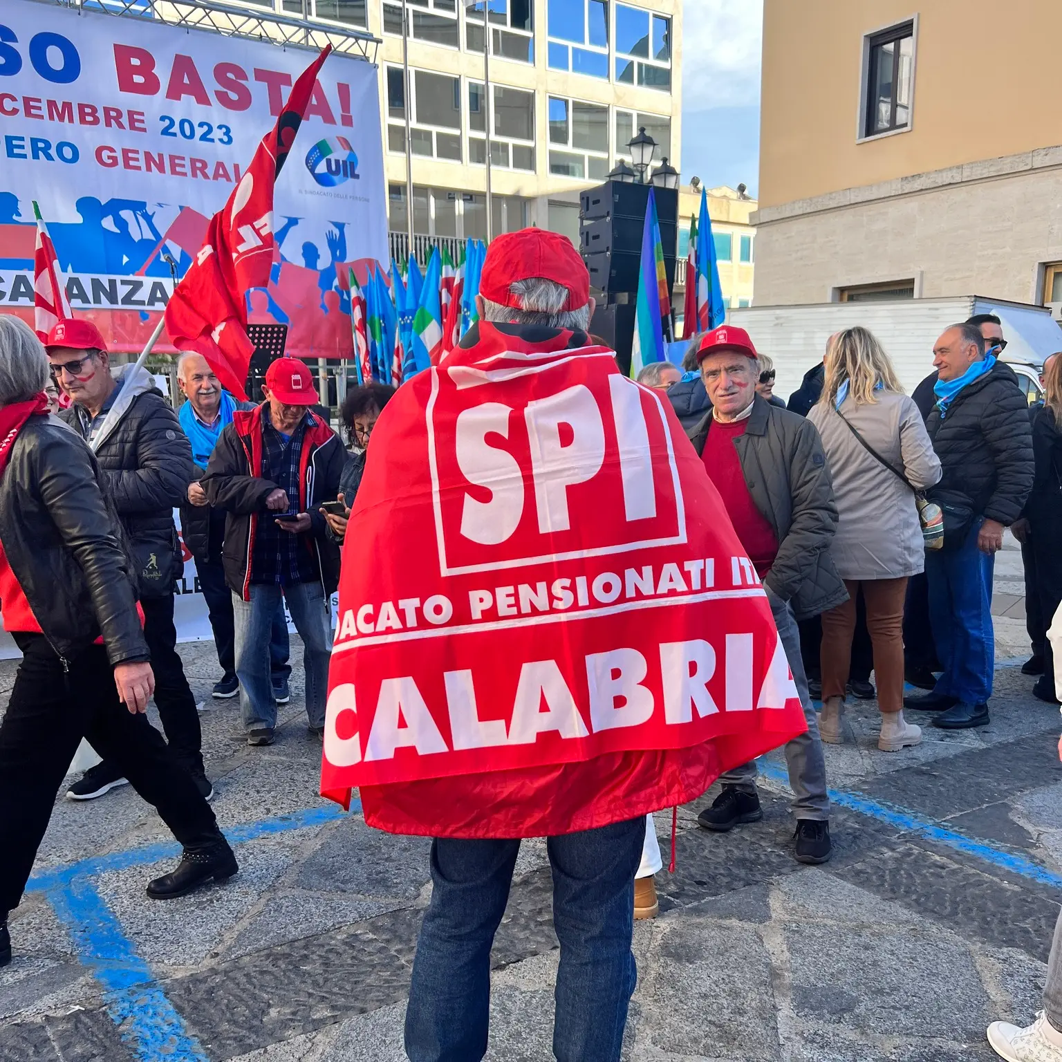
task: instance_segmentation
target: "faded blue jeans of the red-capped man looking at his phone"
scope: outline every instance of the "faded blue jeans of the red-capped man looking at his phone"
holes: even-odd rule
[[[303,639],[306,669],[306,715],[311,726],[325,724],[328,662],[331,656],[331,611],[321,583],[252,583],[251,600],[233,595],[236,621],[236,676],[240,680],[240,710],[249,730],[276,726],[270,660],[270,632],[288,602],[292,622]]]

